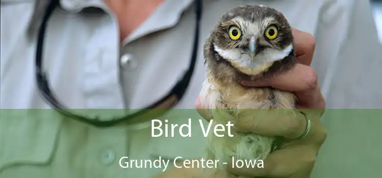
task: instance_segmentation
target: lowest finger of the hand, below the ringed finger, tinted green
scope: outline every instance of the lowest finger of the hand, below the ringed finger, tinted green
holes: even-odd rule
[[[269,154],[262,165],[261,160],[257,160],[255,166],[241,168],[229,163],[228,170],[240,176],[304,177],[299,173],[312,171],[316,155],[316,151],[306,145],[287,147]]]

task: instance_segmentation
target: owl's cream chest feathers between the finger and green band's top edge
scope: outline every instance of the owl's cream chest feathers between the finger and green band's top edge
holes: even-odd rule
[[[203,83],[201,99],[208,108],[271,109],[294,108],[295,97],[272,88],[245,87],[237,82],[215,80]]]

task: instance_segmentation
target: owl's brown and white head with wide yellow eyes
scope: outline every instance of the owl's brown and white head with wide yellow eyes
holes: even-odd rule
[[[217,23],[206,42],[206,55],[217,65],[225,63],[250,76],[280,69],[294,58],[292,29],[275,9],[240,6]]]

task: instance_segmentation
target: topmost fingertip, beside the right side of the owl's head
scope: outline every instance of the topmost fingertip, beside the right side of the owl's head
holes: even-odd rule
[[[312,34],[299,31],[292,28],[293,45],[296,52],[296,59],[301,64],[310,66],[313,60],[314,50],[316,48],[316,40]]]

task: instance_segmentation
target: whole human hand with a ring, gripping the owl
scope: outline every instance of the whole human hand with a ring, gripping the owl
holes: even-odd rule
[[[304,109],[311,120],[311,130],[304,139],[293,140],[306,131],[306,119],[296,112],[297,116],[267,117],[256,124],[248,125],[248,121],[235,123],[238,131],[253,132],[266,136],[281,136],[287,139],[283,145],[268,155],[263,168],[229,169],[235,175],[261,177],[309,177],[313,170],[318,151],[326,139],[326,131],[320,124],[320,117],[325,108],[325,101],[317,82],[317,74],[310,67],[315,48],[314,37],[308,33],[293,29],[294,47],[297,61],[290,71],[282,76],[276,76],[263,81],[239,81],[245,86],[271,86],[282,91],[288,91],[297,97],[297,108]],[[203,103],[197,100],[200,114],[207,120],[208,114],[203,110]],[[308,109],[309,108],[309,109]],[[230,166],[229,166],[230,167]]]

